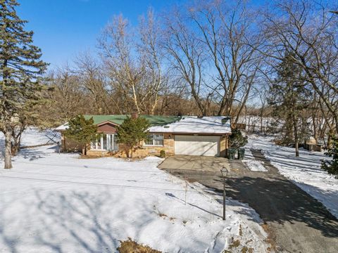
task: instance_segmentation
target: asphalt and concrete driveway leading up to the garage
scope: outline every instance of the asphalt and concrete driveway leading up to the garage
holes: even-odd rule
[[[268,171],[249,171],[242,161],[231,161],[227,196],[248,203],[256,210],[265,222],[264,227],[275,252],[338,252],[338,220],[318,200],[280,175],[259,150],[251,153],[256,160],[263,162]],[[199,164],[199,167],[204,167],[203,159]],[[211,168],[209,165],[210,162],[206,164],[208,169],[204,168],[205,171],[166,169],[163,164],[161,167],[222,193],[220,167]]]

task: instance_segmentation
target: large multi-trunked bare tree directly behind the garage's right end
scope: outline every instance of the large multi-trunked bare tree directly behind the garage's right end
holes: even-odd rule
[[[209,1],[191,8],[190,15],[203,35],[201,41],[216,73],[211,76],[214,82],[211,88],[220,97],[218,115],[232,115],[237,123],[259,66],[253,13],[242,1],[235,1],[234,5]],[[239,106],[233,111],[236,102]]]

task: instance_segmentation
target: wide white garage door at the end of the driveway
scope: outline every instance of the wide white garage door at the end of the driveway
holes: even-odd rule
[[[175,155],[220,155],[219,136],[175,136]]]

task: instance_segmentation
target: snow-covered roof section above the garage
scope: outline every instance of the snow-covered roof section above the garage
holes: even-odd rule
[[[184,116],[180,121],[165,126],[151,126],[153,133],[190,133],[190,134],[231,134],[230,119],[224,124],[225,117]]]

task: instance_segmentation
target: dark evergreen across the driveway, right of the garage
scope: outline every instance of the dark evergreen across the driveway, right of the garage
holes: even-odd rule
[[[296,157],[299,156],[299,140],[305,138],[306,128],[299,131],[302,113],[308,106],[310,91],[306,87],[302,70],[292,62],[292,55],[286,53],[277,66],[277,78],[270,86],[268,102],[273,106],[273,115],[283,124],[282,144],[294,143]]]

